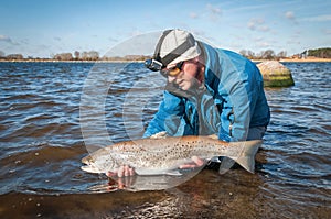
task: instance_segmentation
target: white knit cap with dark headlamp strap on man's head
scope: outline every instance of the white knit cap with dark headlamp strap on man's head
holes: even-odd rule
[[[161,58],[162,64],[167,66],[192,59],[200,54],[201,50],[193,35],[186,31],[175,29],[163,32],[156,47],[154,58]]]

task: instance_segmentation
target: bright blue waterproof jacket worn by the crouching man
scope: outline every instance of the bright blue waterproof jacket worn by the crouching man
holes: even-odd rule
[[[243,141],[249,128],[268,125],[270,111],[256,65],[234,52],[200,45],[204,86],[189,94],[168,85],[145,138],[167,131],[174,136],[217,134],[224,141]]]

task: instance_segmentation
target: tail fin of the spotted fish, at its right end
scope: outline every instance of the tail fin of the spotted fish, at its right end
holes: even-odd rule
[[[258,147],[261,145],[261,140],[253,140],[245,142],[236,142],[241,143],[243,149],[239,153],[238,157],[235,160],[241,166],[243,166],[246,171],[254,174],[255,169],[255,155]]]

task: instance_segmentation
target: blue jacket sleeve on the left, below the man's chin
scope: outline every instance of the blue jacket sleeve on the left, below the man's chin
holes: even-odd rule
[[[167,131],[168,135],[175,135],[183,114],[184,103],[182,98],[166,90],[159,110],[148,124],[143,138],[151,136],[161,131]]]

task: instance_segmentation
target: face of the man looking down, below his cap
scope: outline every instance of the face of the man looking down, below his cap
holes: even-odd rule
[[[175,64],[168,65],[167,68],[171,69]],[[196,59],[185,61],[182,65],[181,72],[175,76],[168,75],[168,81],[177,84],[182,90],[189,90],[199,86],[196,76],[200,72],[200,65]]]

